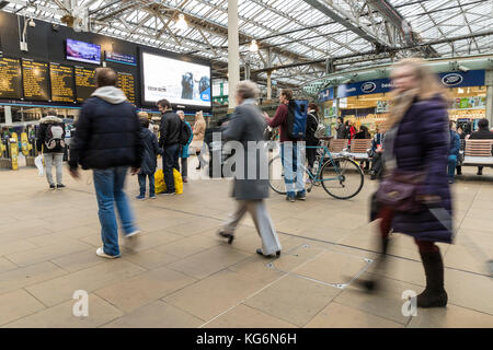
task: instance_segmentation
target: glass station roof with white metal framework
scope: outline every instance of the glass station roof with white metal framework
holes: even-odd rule
[[[78,10],[64,8],[67,2],[11,0],[3,11],[60,23],[64,15]],[[226,78],[228,0],[71,2],[89,11],[92,32],[211,59],[214,77]],[[316,9],[314,2],[325,10]],[[273,79],[280,86],[299,86],[323,77],[329,58],[340,70],[355,65],[349,58],[370,66],[388,62],[395,55],[451,57],[493,51],[493,0],[368,2],[238,0],[242,65],[249,62],[257,81],[266,79],[266,69],[289,66],[278,68]],[[180,13],[188,23],[185,31],[175,26]],[[402,22],[410,24],[413,35],[406,35]],[[260,51],[250,52],[252,39],[257,40]],[[426,43],[432,44],[424,47]],[[371,52],[376,56],[366,55]],[[305,62],[311,63],[294,66]]]

